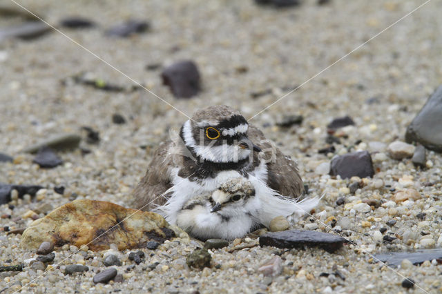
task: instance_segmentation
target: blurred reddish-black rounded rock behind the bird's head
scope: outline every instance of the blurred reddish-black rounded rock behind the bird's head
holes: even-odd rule
[[[169,86],[177,98],[190,98],[200,91],[200,72],[193,61],[173,63],[164,68],[161,77],[163,84]]]

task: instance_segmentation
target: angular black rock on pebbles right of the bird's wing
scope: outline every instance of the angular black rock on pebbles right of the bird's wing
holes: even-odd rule
[[[330,175],[340,175],[343,179],[354,176],[373,177],[372,157],[367,151],[358,151],[334,157],[330,164]]]

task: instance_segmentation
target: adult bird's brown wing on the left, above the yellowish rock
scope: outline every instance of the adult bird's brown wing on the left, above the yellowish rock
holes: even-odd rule
[[[173,157],[169,156],[170,144],[171,141],[162,142],[153,153],[146,175],[133,191],[131,207],[151,210],[155,204],[162,205],[166,203],[166,198],[160,195],[172,186],[170,175],[174,164]]]

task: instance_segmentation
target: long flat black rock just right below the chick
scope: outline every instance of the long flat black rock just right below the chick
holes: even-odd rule
[[[260,237],[260,246],[275,246],[278,248],[303,248],[318,246],[333,253],[343,246],[345,239],[338,235],[317,231],[288,230],[267,233]]]

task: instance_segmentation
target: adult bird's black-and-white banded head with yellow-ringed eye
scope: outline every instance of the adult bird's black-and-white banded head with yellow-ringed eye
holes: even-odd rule
[[[249,124],[233,108],[224,105],[198,110],[180,131],[186,147],[204,161],[238,162],[261,149],[247,137]]]

